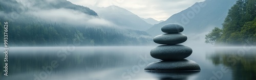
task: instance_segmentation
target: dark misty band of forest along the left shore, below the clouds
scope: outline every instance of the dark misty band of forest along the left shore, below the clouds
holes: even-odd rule
[[[32,22],[9,24],[11,46],[76,46],[143,45],[151,39],[129,37],[115,29],[96,29],[67,24]],[[99,26],[100,27],[100,26]],[[131,42],[130,42],[131,41]]]

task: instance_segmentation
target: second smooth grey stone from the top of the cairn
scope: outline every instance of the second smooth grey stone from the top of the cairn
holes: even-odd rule
[[[175,34],[162,34],[154,37],[153,41],[158,44],[179,44],[187,40],[187,36],[180,33]]]

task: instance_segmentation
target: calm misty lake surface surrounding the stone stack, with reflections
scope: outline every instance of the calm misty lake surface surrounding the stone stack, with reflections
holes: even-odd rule
[[[256,47],[191,47],[200,72],[145,72],[156,46],[11,47],[2,80],[256,79]],[[3,49],[1,49],[4,52]]]

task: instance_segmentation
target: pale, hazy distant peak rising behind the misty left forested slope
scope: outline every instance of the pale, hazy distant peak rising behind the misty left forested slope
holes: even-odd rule
[[[145,31],[152,26],[152,24],[145,22],[136,14],[118,6],[109,6],[106,8],[90,8],[95,10],[99,17],[109,20],[122,28]]]

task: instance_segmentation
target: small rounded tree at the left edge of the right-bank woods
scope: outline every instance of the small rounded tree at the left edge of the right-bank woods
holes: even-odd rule
[[[214,44],[216,42],[217,39],[219,39],[222,35],[222,30],[219,28],[214,28],[214,30],[212,30],[210,33],[208,33],[207,35],[205,35],[205,43],[211,43]]]

